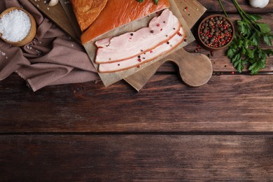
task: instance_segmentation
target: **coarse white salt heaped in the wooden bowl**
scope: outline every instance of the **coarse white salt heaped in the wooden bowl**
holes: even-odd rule
[[[30,28],[30,18],[22,10],[11,10],[0,19],[0,33],[7,41],[22,41],[29,34]]]

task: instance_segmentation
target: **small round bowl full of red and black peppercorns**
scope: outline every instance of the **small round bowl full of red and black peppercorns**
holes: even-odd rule
[[[198,39],[207,50],[221,50],[228,47],[234,37],[235,28],[223,15],[209,15],[198,27]]]

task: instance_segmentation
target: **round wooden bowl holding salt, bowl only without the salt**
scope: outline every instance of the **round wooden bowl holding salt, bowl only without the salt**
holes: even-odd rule
[[[0,19],[3,17],[3,15],[5,15],[6,13],[12,11],[12,10],[22,10],[24,11],[25,13],[27,13],[27,15],[29,16],[30,18],[30,22],[31,22],[31,27],[30,27],[30,30],[29,30],[29,34],[27,34],[27,36],[25,38],[22,39],[22,41],[18,41],[18,42],[12,42],[12,41],[8,41],[6,40],[5,38],[2,38],[1,34],[0,34],[0,38],[5,41],[6,43],[9,43],[10,45],[13,45],[13,46],[17,46],[17,47],[20,47],[20,46],[23,46],[23,45],[26,45],[27,43],[30,43],[32,41],[32,39],[34,38],[34,36],[36,35],[36,22],[35,22],[35,19],[34,17],[29,14],[27,12],[27,10],[24,10],[23,8],[18,8],[18,7],[11,7],[11,8],[8,8],[6,10],[4,10],[1,14],[0,14]]]

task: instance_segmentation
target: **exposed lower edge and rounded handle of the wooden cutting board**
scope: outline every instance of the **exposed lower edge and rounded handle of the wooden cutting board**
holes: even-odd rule
[[[137,74],[128,76],[125,80],[130,83],[137,91],[150,80],[160,66],[165,62],[174,62],[179,66],[181,79],[187,85],[198,87],[204,85],[212,76],[212,64],[209,57],[200,53],[190,53],[181,48],[171,55],[160,59],[158,62],[140,70]]]

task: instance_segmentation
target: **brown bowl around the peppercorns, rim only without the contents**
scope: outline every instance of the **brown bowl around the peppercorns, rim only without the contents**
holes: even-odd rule
[[[202,24],[206,23],[207,20],[211,20],[211,18],[216,18],[216,17],[225,18],[225,20],[228,21],[228,24],[230,25],[230,28],[232,29],[232,31],[230,31],[230,34],[231,34],[230,40],[227,43],[225,43],[225,45],[222,45],[222,47],[218,47],[218,48],[211,47],[211,46],[207,45],[206,43],[204,43],[204,41],[202,40],[201,35],[200,35],[200,31],[202,30],[202,26],[203,26]],[[224,48],[227,48],[228,45],[230,45],[230,43],[232,42],[232,39],[235,36],[235,28],[234,28],[232,22],[228,18],[226,18],[225,16],[223,16],[223,15],[209,15],[206,18],[204,18],[204,20],[202,20],[202,22],[200,23],[200,25],[198,27],[197,34],[198,34],[198,41],[200,42],[202,47],[204,47],[205,49],[207,49],[207,50],[222,50]]]

